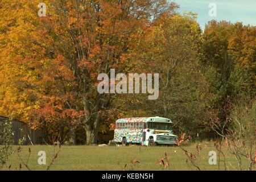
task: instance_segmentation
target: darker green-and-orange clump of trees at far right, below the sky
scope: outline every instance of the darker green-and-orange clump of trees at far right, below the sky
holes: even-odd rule
[[[255,100],[255,27],[213,20],[205,27],[203,39],[212,118],[224,136],[232,125],[230,105],[244,97]]]

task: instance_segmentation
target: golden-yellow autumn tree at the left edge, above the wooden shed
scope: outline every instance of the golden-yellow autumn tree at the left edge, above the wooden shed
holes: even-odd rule
[[[36,28],[36,3],[0,2],[0,113],[29,121],[28,111],[36,108],[37,70],[32,64],[41,48],[32,47]]]

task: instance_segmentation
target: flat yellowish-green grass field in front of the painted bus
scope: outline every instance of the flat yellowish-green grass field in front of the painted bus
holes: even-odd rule
[[[28,148],[31,148],[31,156],[28,160],[28,167],[31,170],[46,170],[47,165],[51,162],[53,154],[53,146],[22,146],[22,158],[26,162]],[[188,152],[196,155],[196,163],[201,170],[218,170],[217,165],[210,165],[209,151],[216,151],[213,142],[202,142],[199,156],[197,156],[196,143],[189,146],[183,146]],[[18,146],[14,146],[14,149]],[[191,163],[187,163],[187,156],[179,147],[141,147],[139,146],[61,146],[59,156],[51,166],[50,170],[122,170],[125,164],[126,169],[135,170],[162,170],[158,160],[164,158],[165,153],[168,155],[170,167],[169,170],[197,170]],[[55,151],[57,151],[55,147]],[[47,165],[38,164],[38,152],[45,151]],[[218,154],[218,153],[217,153]],[[136,167],[131,167],[131,160],[138,160]],[[218,157],[217,157],[218,159]],[[222,159],[222,158],[221,158]],[[189,161],[189,160],[188,160]],[[22,164],[17,154],[12,154],[4,170],[19,170],[19,164]],[[245,158],[243,165],[247,169],[248,161]],[[237,170],[237,160],[230,152],[226,152],[226,166],[228,170]],[[167,169],[167,168],[166,168]],[[221,169],[224,169],[221,163]],[[22,170],[27,170],[22,165]]]

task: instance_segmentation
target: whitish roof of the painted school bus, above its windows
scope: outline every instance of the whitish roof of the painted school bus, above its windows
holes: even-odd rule
[[[135,123],[135,122],[167,122],[172,123],[171,119],[162,117],[141,117],[141,118],[121,118],[117,119],[117,123]]]

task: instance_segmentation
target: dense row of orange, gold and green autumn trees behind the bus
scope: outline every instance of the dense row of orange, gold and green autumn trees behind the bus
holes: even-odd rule
[[[212,20],[164,0],[1,1],[0,115],[49,138],[92,144],[120,117],[171,118],[175,133],[224,137],[234,119],[255,127],[256,27]],[[97,76],[159,73],[159,98],[99,94]],[[251,127],[253,129],[253,127]]]

